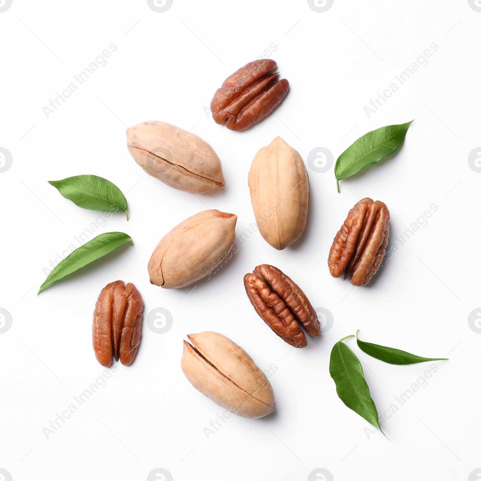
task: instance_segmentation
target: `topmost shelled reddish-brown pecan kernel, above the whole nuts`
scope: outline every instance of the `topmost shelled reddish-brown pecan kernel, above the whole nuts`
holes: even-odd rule
[[[274,60],[255,60],[226,78],[211,102],[215,123],[244,130],[270,114],[289,90],[289,82],[273,73],[276,67]]]

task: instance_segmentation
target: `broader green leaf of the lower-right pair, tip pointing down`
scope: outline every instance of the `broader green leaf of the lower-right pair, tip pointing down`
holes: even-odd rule
[[[354,335],[334,344],[329,361],[329,373],[336,383],[336,392],[341,401],[382,432],[378,410],[369,393],[361,363],[349,346],[342,342],[348,337]]]

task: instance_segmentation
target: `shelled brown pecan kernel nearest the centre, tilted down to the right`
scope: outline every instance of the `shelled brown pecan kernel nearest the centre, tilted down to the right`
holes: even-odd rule
[[[244,286],[257,314],[291,346],[307,345],[300,324],[310,336],[319,335],[316,311],[299,286],[278,268],[257,266],[244,276]]]

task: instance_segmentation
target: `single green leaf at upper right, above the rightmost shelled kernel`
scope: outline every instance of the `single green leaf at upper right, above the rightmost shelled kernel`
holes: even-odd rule
[[[334,166],[337,191],[339,192],[341,179],[352,176],[366,165],[375,164],[383,157],[396,152],[403,144],[407,129],[413,122],[414,120],[411,120],[405,124],[388,125],[371,130],[342,152]]]

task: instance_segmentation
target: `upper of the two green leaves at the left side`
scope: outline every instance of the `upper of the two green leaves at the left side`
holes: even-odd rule
[[[122,191],[110,180],[103,177],[85,175],[67,177],[63,180],[49,180],[58,191],[82,209],[125,212],[127,200]]]

